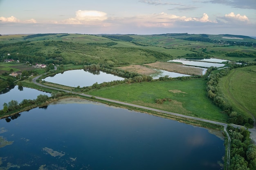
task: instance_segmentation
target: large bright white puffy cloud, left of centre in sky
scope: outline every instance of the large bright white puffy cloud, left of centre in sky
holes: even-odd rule
[[[108,19],[107,13],[101,11],[76,11],[75,18],[69,18],[61,23],[65,24],[89,24],[88,22],[98,22]]]

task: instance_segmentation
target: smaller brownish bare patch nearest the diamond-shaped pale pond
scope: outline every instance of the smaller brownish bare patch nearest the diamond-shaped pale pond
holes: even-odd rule
[[[151,74],[157,73],[157,71],[154,70],[153,68],[148,68],[146,66],[141,66],[141,65],[130,65],[130,66],[124,66],[124,67],[118,67],[118,68],[125,71],[136,72],[144,75],[151,75]]]

